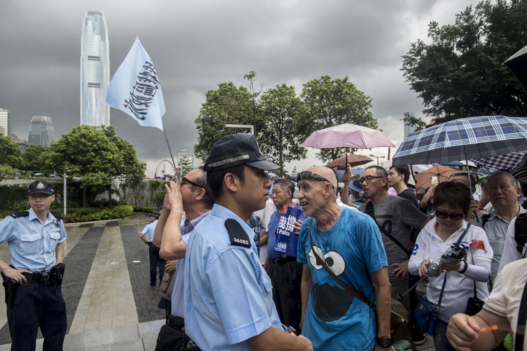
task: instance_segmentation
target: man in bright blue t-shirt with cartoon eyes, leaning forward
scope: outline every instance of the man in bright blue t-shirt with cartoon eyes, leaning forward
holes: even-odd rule
[[[372,218],[337,205],[337,178],[330,168],[310,167],[296,181],[299,205],[311,217],[298,239],[302,335],[322,351],[391,349],[388,264],[379,229]],[[373,310],[341,287],[314,252],[346,285],[376,303],[377,334]]]

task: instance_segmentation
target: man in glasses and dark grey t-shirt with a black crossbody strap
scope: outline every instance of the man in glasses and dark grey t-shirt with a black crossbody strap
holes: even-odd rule
[[[388,173],[383,167],[367,167],[360,181],[370,202],[359,210],[372,216],[382,233],[395,298],[408,290],[408,258],[415,244],[411,239],[412,228],[421,230],[430,219],[407,199],[388,194]],[[403,305],[409,311],[410,299],[405,298]],[[409,335],[405,338],[409,339]]]

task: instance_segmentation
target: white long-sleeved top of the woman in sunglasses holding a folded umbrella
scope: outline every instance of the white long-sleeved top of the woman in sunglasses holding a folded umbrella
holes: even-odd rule
[[[455,244],[466,229],[467,223],[463,221],[461,228],[452,234],[446,242],[436,234],[436,218],[428,222],[417,236],[408,270],[414,275],[419,274],[419,265],[423,259],[438,259],[452,244]],[[474,295],[474,279],[476,279],[477,297],[484,299],[489,296],[486,281],[491,273],[491,261],[493,256],[492,247],[485,231],[480,227],[471,225],[461,243],[469,248],[466,262],[469,268],[460,274],[452,270],[445,271],[447,280],[438,317],[444,322],[456,313],[464,313],[466,301]],[[463,268],[463,263],[461,264]],[[430,277],[430,283],[426,288],[426,297],[433,304],[439,302],[441,287],[445,273],[438,277]]]

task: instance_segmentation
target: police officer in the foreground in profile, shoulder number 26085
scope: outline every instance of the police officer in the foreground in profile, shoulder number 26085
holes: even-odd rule
[[[216,204],[194,228],[184,268],[185,331],[202,350],[313,350],[286,332],[246,224],[265,207],[278,166],[254,136],[238,133],[214,144],[204,166]]]

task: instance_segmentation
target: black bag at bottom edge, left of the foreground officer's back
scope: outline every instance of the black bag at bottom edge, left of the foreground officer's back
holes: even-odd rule
[[[194,342],[184,332],[185,324],[181,317],[168,316],[167,323],[159,330],[154,351],[199,351]]]

